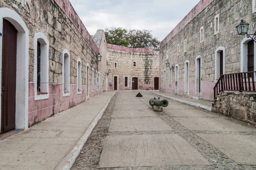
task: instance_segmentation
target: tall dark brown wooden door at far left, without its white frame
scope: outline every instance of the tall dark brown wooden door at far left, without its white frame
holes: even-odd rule
[[[15,129],[17,30],[3,19],[1,133]]]

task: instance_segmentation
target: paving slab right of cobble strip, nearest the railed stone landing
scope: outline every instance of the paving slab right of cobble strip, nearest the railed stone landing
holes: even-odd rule
[[[223,118],[179,118],[174,117],[189,130],[217,130],[217,131],[253,131],[253,129],[230,122]]]

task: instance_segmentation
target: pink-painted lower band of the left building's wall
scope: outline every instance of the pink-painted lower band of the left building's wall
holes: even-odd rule
[[[49,99],[36,100],[34,83],[29,83],[29,127],[44,121],[48,117],[72,108],[86,100],[86,85],[82,85],[82,93],[77,94],[77,85],[70,85],[70,96],[63,97],[62,85],[49,84]],[[96,86],[95,86],[96,88]],[[105,90],[101,90],[101,93]],[[90,97],[96,96],[97,91],[92,92]]]

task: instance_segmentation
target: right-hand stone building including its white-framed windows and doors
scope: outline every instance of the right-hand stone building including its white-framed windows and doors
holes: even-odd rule
[[[255,0],[201,0],[160,43],[160,91],[213,101],[220,75],[234,83],[235,73],[256,71],[256,43],[236,30],[244,19],[253,34],[255,12]],[[224,90],[242,91],[229,83]]]

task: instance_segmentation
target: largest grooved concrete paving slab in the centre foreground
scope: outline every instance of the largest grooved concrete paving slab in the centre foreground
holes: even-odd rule
[[[209,161],[177,134],[107,136],[99,161],[100,168],[180,164]]]

